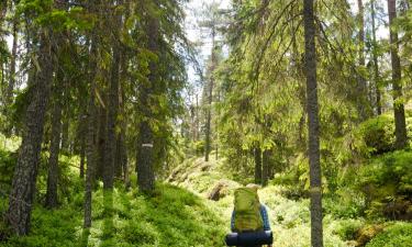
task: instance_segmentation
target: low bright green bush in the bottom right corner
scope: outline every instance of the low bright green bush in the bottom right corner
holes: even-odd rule
[[[396,223],[372,238],[366,247],[411,247],[412,223]]]

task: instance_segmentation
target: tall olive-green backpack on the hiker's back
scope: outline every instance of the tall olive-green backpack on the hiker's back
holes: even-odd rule
[[[258,231],[264,228],[260,202],[256,188],[235,190],[235,231]]]

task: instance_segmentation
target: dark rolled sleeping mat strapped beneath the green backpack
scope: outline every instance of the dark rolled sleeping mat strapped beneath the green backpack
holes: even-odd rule
[[[227,246],[271,245],[274,235],[271,231],[230,233],[225,242]]]

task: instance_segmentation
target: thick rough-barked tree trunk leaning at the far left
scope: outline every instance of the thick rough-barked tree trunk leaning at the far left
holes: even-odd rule
[[[49,31],[41,33],[38,65],[32,99],[25,114],[25,128],[9,197],[8,222],[16,235],[26,235],[35,193],[45,112],[53,81],[53,60]]]

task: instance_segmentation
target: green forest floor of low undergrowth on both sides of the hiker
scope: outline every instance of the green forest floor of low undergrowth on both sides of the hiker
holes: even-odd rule
[[[5,160],[5,153],[0,158]],[[99,183],[93,193],[92,227],[82,229],[83,182],[73,165],[78,158],[62,157],[63,171],[68,176],[63,190],[62,205],[49,211],[40,203],[32,214],[31,234],[26,237],[11,237],[1,242],[4,225],[0,224],[0,247],[59,247],[59,246],[113,246],[113,247],[221,247],[224,235],[230,229],[233,209],[233,189],[240,184],[227,178],[222,160],[204,162],[203,158],[187,159],[175,169],[168,181],[158,183],[153,197],[144,197],[135,188],[125,191],[119,183],[113,192],[103,192]],[[5,164],[5,162],[4,162]],[[70,165],[71,164],[71,165]],[[44,171],[43,171],[44,172]],[[42,169],[37,180],[42,201],[45,192]],[[209,200],[211,191],[221,186],[220,199]],[[62,187],[63,188],[63,187]],[[268,186],[259,191],[260,201],[269,207],[276,247],[310,246],[309,200],[291,200],[282,195],[282,187]],[[7,197],[0,195],[0,213],[7,209]],[[355,246],[350,234],[365,225],[363,218],[324,217],[324,239],[326,247]],[[393,223],[401,233],[386,238],[405,237],[404,247],[410,247],[408,236],[411,223]],[[408,224],[405,228],[404,225]],[[408,229],[409,232],[404,232]],[[403,231],[403,232],[402,232]],[[388,235],[387,234],[387,235]],[[348,237],[349,236],[349,237]],[[386,239],[386,238],[382,239]],[[378,235],[379,238],[379,235]],[[346,240],[343,240],[346,239]],[[399,246],[381,244],[367,245]]]

